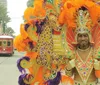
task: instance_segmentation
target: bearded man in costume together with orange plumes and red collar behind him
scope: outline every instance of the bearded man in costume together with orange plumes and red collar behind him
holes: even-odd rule
[[[88,3],[91,4],[88,5]],[[95,14],[93,7],[98,10],[95,11]],[[74,2],[73,0],[66,1],[60,15],[59,22],[68,24],[66,33],[70,49],[68,53],[73,52],[74,55],[73,59],[70,59],[71,56],[67,56],[69,63],[65,72],[68,76],[74,75],[74,85],[100,84],[99,10],[100,6],[92,1],[76,0]]]

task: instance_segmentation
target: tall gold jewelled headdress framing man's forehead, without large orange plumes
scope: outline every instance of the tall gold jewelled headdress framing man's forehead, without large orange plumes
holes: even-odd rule
[[[92,20],[89,14],[89,11],[85,7],[79,8],[79,10],[76,13],[76,39],[77,34],[79,33],[87,33],[89,35],[89,38],[91,39],[91,29],[93,27]]]

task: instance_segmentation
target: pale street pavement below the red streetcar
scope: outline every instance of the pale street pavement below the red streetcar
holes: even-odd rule
[[[15,51],[13,56],[0,56],[0,85],[18,85],[20,72],[16,62],[24,55]]]

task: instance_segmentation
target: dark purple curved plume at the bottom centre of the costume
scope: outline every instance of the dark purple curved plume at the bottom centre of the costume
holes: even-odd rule
[[[57,76],[54,79],[50,79],[46,82],[47,85],[58,85],[61,81],[61,73],[57,72]]]

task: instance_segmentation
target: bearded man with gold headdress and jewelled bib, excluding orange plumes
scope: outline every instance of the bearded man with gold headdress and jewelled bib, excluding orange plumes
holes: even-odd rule
[[[94,64],[94,47],[91,42],[91,32],[88,27],[85,26],[84,20],[88,10],[85,7],[81,7],[78,10],[79,21],[77,23],[80,26],[76,28],[76,46],[75,46],[75,60],[71,62],[66,69],[66,74],[72,72],[74,75],[75,85],[96,85]],[[89,17],[88,17],[89,18]],[[71,64],[73,63],[73,66]],[[75,64],[75,66],[74,66]],[[71,69],[71,67],[73,69]]]

